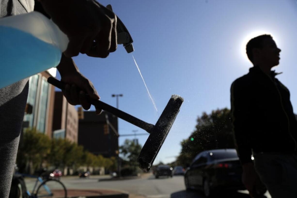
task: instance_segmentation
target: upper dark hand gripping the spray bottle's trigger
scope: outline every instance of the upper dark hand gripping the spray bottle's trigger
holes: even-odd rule
[[[95,0],[40,0],[53,22],[67,34],[65,56],[105,58],[116,51],[116,15]]]

